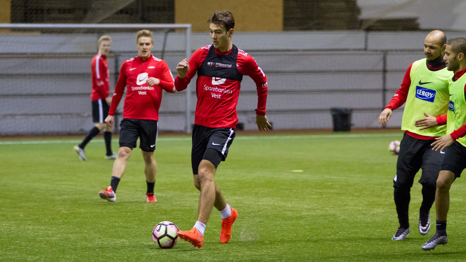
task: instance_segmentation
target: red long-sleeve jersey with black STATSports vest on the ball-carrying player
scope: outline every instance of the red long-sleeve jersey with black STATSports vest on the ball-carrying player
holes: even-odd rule
[[[175,79],[176,90],[185,90],[192,77],[196,81],[195,124],[206,127],[236,128],[236,105],[242,76],[250,76],[257,89],[257,115],[266,114],[267,77],[254,58],[245,51],[233,48],[221,52],[212,46],[197,49],[189,59],[185,78]]]

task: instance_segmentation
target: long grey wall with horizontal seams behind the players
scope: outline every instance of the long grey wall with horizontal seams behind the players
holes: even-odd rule
[[[275,129],[331,128],[332,107],[354,109],[353,127],[377,127],[378,114],[399,88],[406,68],[424,57],[426,34],[262,32],[234,34],[233,43],[254,56],[267,75],[267,117]],[[449,37],[457,34],[460,33],[447,32]],[[134,34],[111,36],[114,53],[108,60],[114,86],[122,62],[137,53]],[[3,35],[0,134],[88,131],[93,125],[90,60],[96,52],[97,37],[97,34]],[[153,53],[158,57],[161,42],[162,35],[155,34]],[[181,33],[171,33],[167,39],[164,60],[175,76],[176,64],[185,57],[184,42]],[[191,48],[195,49],[208,45],[210,40],[207,33],[196,33],[191,42]],[[163,96],[160,129],[185,130],[185,93]],[[191,100],[193,112],[195,94]],[[245,77],[237,109],[247,130],[256,129],[256,105],[255,85]],[[389,126],[401,125],[402,112],[395,110]]]

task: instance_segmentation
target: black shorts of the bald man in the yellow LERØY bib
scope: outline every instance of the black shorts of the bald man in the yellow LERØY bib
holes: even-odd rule
[[[436,186],[439,177],[440,164],[444,159],[444,153],[433,151],[431,144],[435,139],[413,138],[406,133],[400,144],[400,152],[397,161],[397,174],[393,179],[393,187],[412,186],[414,176],[422,168],[419,183]]]

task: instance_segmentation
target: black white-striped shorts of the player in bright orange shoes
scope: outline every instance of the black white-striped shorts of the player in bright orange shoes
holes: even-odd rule
[[[215,128],[194,124],[192,129],[191,165],[197,175],[201,160],[210,161],[217,168],[225,161],[228,148],[236,136],[234,128]]]

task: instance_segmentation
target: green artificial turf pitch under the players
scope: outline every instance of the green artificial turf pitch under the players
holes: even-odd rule
[[[0,139],[0,260],[464,261],[465,178],[451,189],[447,245],[421,250],[435,231],[435,208],[431,232],[420,235],[418,183],[411,189],[411,234],[391,240],[398,226],[392,188],[397,156],[387,148],[401,138],[401,131],[238,134],[215,181],[239,217],[230,242],[221,244],[221,219],[213,209],[200,249],[182,240],[161,249],[151,238],[158,222],[188,230],[196,221],[190,137],[159,137],[155,204],[145,202],[138,148],[117,202],[108,203],[98,191],[110,185],[113,161],[103,159],[101,138],[86,147],[88,161],[73,152],[73,139]],[[114,138],[114,151],[117,145]]]

